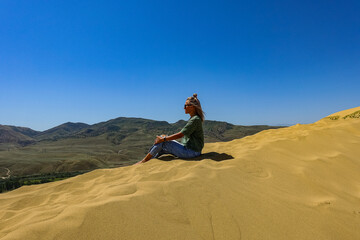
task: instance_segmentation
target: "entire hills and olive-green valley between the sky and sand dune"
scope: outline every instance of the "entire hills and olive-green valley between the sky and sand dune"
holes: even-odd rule
[[[184,120],[170,124],[119,117],[93,125],[68,122],[43,132],[1,125],[0,168],[10,169],[12,176],[23,176],[125,166],[143,158],[156,135],[177,133],[185,124]],[[206,120],[203,128],[209,143],[279,127]]]

